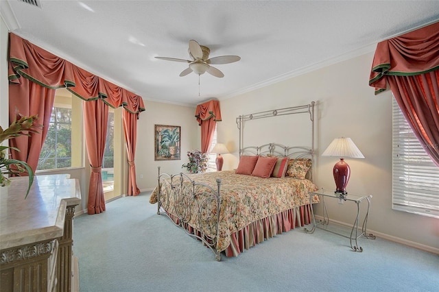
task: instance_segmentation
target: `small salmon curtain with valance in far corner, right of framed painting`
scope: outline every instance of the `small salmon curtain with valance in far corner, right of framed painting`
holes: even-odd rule
[[[212,144],[213,133],[217,121],[221,121],[219,101],[213,99],[199,104],[195,109],[195,118],[201,126],[201,151],[207,153]]]

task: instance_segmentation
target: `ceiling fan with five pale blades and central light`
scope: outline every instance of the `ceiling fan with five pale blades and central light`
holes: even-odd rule
[[[211,50],[208,47],[198,44],[198,42],[196,42],[195,40],[189,40],[188,51],[189,56],[191,56],[193,60],[167,57],[156,58],[167,61],[189,63],[189,67],[187,67],[187,69],[183,70],[182,73],[180,73],[180,77],[186,76],[191,72],[194,72],[198,75],[202,75],[207,72],[219,78],[224,77],[224,74],[215,67],[211,66],[211,64],[229,64],[241,60],[241,57],[239,56],[218,56],[209,58],[209,53],[211,52]]]

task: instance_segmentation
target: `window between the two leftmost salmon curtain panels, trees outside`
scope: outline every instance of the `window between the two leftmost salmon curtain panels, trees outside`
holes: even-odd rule
[[[82,157],[81,100],[64,88],[56,90],[49,130],[38,159],[38,171],[81,167]]]

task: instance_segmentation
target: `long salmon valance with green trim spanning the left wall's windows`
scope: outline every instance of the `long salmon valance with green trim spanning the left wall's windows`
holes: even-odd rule
[[[65,87],[84,100],[101,98],[108,106],[123,106],[133,114],[145,110],[141,96],[93,75],[15,34],[10,33],[9,40],[11,83],[19,84],[21,77],[25,77],[47,88]]]

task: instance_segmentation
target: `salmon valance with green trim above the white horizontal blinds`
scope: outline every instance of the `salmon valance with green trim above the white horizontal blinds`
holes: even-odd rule
[[[438,69],[439,22],[379,42],[369,85],[377,95],[386,90],[387,75],[420,75]]]

